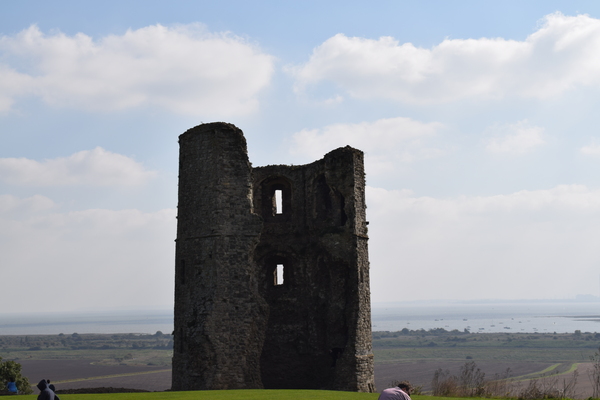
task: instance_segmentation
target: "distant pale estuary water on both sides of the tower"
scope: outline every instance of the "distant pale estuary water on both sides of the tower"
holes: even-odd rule
[[[600,332],[600,302],[374,303],[373,331],[443,328],[473,333]],[[173,331],[171,310],[2,314],[0,335]]]

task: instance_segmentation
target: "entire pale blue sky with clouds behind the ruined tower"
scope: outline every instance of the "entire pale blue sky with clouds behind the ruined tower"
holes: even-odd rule
[[[170,308],[180,134],[365,152],[374,303],[600,295],[600,3],[0,2],[0,313]]]

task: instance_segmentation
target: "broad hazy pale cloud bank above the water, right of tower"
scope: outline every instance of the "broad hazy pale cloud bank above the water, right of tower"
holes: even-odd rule
[[[367,204],[373,301],[597,293],[600,190],[438,199],[369,187]]]

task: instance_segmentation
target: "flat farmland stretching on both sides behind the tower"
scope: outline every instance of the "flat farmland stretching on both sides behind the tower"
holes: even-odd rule
[[[171,386],[170,335],[0,336],[0,346],[0,357],[21,363],[33,385],[50,379],[58,390]],[[600,335],[587,333],[374,332],[375,383],[381,391],[409,380],[428,391],[436,370],[459,375],[465,363],[475,362],[488,380],[510,370],[516,385],[552,374],[566,379],[567,372],[578,370],[578,388],[587,393],[590,357],[598,346]]]

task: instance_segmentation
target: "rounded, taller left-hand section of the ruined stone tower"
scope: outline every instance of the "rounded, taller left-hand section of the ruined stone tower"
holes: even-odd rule
[[[267,310],[253,256],[262,221],[246,140],[215,123],[179,144],[173,389],[261,388]]]

